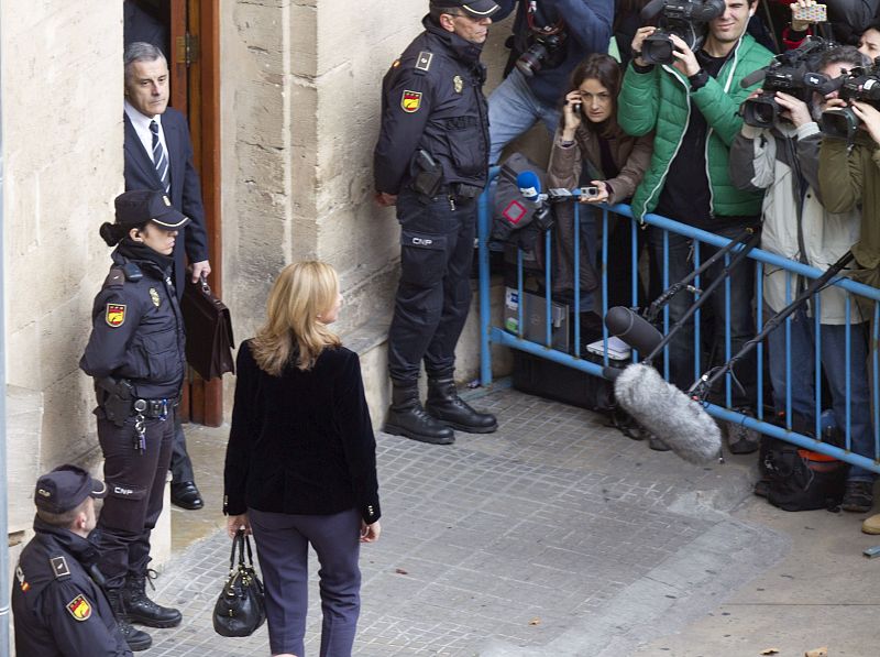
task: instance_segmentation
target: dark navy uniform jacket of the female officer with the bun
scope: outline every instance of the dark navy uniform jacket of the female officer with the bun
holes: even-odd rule
[[[125,253],[124,245],[113,251],[113,267],[95,297],[91,336],[79,366],[96,380],[129,380],[139,397],[176,402],[186,368],[186,338],[170,259],[163,270],[158,261]]]

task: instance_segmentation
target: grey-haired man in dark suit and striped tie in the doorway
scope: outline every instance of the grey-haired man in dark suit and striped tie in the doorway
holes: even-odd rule
[[[183,296],[186,261],[190,277],[211,273],[201,183],[193,164],[193,144],[186,118],[168,107],[168,64],[156,46],[134,42],[125,47],[125,190],[164,191],[172,205],[189,217],[174,247],[174,285]],[[172,452],[172,503],[201,508],[205,503],[195,484],[193,463],[178,424]]]

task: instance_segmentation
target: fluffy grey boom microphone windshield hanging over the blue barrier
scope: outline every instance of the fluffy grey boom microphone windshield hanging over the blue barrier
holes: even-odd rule
[[[722,432],[700,402],[644,363],[628,365],[614,382],[617,402],[685,461],[703,466],[722,452]]]

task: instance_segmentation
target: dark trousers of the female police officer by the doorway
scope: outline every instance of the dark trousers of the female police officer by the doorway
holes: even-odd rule
[[[107,588],[123,584],[129,572],[150,562],[150,533],[162,512],[172,456],[174,410],[163,420],[147,418],[143,451],[135,449],[134,417],[118,427],[99,408],[98,440],[103,451],[107,497],[98,519],[97,540]]]

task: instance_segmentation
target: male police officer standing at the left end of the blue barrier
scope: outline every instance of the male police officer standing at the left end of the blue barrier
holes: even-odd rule
[[[494,416],[459,397],[453,380],[455,343],[471,304],[476,200],[488,162],[480,54],[497,10],[492,0],[431,0],[425,32],[383,80],[376,201],[397,206],[402,228],[385,430],[437,445],[453,442],[453,429],[484,434],[497,428]],[[422,360],[428,374],[424,408]]]

